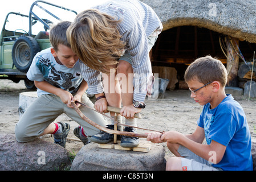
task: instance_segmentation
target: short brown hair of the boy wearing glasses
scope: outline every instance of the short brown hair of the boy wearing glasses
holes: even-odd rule
[[[197,79],[203,84],[219,81],[222,86],[227,83],[227,71],[220,60],[212,56],[200,57],[189,65],[185,72],[185,81]]]

